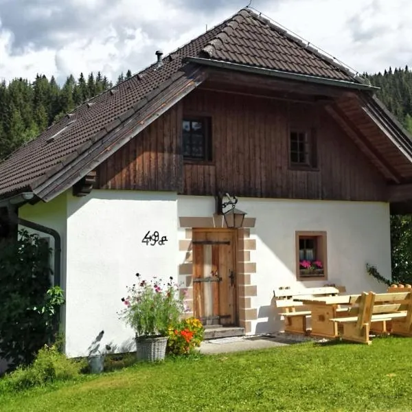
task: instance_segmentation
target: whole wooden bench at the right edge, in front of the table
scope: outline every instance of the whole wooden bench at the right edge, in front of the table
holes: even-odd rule
[[[351,303],[347,317],[331,319],[341,325],[341,338],[345,341],[369,345],[371,325],[387,321],[391,321],[391,334],[412,336],[412,292],[364,292]]]

